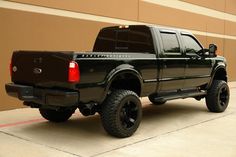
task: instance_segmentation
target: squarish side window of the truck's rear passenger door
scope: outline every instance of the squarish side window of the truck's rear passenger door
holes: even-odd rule
[[[161,33],[165,52],[180,52],[180,46],[175,33]]]

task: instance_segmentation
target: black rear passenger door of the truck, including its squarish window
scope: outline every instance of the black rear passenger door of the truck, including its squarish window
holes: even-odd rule
[[[182,89],[184,86],[185,58],[176,31],[160,30],[161,53],[159,64],[161,75],[159,91]]]

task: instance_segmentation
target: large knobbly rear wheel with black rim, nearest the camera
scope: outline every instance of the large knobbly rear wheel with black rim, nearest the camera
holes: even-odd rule
[[[112,136],[120,138],[131,136],[137,130],[141,118],[141,102],[133,91],[115,90],[102,105],[102,124]]]

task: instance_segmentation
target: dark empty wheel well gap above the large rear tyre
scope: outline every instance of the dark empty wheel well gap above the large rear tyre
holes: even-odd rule
[[[112,81],[110,90],[126,89],[135,92],[138,96],[141,94],[141,84],[137,76],[129,73],[124,73],[116,76]]]

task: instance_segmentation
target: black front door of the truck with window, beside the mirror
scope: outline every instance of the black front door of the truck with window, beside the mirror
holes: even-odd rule
[[[186,56],[184,88],[199,87],[210,81],[212,60],[197,54],[202,48],[197,39],[181,33]]]

